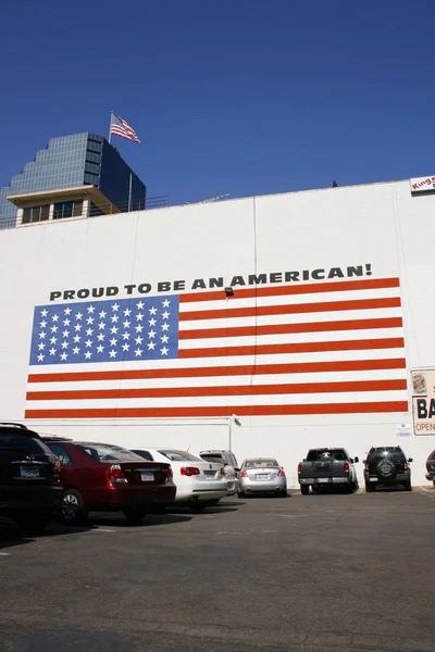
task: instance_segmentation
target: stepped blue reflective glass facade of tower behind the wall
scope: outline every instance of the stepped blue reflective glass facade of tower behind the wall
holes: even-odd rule
[[[8,196],[84,185],[99,188],[120,211],[127,211],[128,205],[129,210],[145,208],[146,187],[116,149],[97,134],[73,134],[51,138],[47,148],[0,189],[0,228],[15,226],[16,206]]]

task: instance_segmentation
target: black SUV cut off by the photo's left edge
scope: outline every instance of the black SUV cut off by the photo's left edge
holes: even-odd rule
[[[0,423],[0,516],[24,535],[40,534],[62,499],[60,467],[37,432]]]

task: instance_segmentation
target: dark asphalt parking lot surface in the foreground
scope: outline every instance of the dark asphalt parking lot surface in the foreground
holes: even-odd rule
[[[428,652],[435,492],[227,498],[139,526],[119,514],[0,525],[0,650]]]

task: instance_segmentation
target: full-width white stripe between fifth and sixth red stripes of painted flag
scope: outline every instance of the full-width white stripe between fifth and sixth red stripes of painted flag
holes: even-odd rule
[[[362,372],[323,372],[315,374],[263,374],[199,376],[196,378],[152,378],[135,380],[91,380],[73,383],[32,383],[27,391],[74,391],[78,389],[151,389],[165,387],[235,387],[238,385],[297,385],[300,383],[346,383],[349,380],[402,380],[407,369],[373,369]]]

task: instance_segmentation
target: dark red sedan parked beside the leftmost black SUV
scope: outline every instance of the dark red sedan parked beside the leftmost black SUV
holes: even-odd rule
[[[42,437],[62,463],[61,516],[84,522],[89,512],[122,511],[130,521],[175,499],[170,464],[147,462],[119,446]]]

